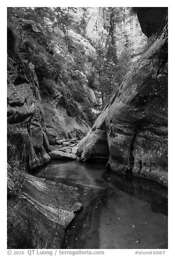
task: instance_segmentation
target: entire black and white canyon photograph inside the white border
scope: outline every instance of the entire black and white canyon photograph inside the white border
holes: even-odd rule
[[[115,5],[6,9],[9,255],[169,248],[169,7]]]

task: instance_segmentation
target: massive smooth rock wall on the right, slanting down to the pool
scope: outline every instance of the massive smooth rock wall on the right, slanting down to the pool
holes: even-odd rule
[[[108,165],[114,172],[167,186],[166,22],[164,25],[82,140],[78,152],[82,160],[108,157],[104,154],[108,145]]]

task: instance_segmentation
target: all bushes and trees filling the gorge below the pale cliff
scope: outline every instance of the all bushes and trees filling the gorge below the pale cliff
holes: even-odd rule
[[[92,123],[93,103],[88,99],[86,86],[101,92],[105,105],[118,90],[130,59],[127,50],[117,57],[114,47],[100,46],[96,46],[97,54],[93,58],[71,44],[68,36],[71,29],[86,37],[88,9],[83,8],[78,22],[72,15],[76,10],[71,7],[8,8],[8,25],[16,34],[16,48],[21,58],[35,67],[41,97],[55,98],[56,94],[62,94],[71,102],[67,106],[71,116],[81,116]],[[92,44],[91,39],[88,40]],[[78,109],[76,102],[82,108]]]

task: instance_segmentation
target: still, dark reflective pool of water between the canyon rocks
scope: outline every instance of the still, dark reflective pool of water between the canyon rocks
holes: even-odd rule
[[[69,224],[63,248],[167,248],[167,189],[155,182],[116,175],[103,163],[52,161],[37,176],[103,189]]]

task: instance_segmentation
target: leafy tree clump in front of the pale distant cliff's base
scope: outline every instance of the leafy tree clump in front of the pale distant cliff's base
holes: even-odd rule
[[[119,90],[120,83],[129,71],[132,61],[127,48],[120,57],[116,56],[112,47],[105,49],[99,46],[96,48],[96,53],[97,58],[89,76],[88,85],[92,89],[101,91],[103,105],[105,105]]]

